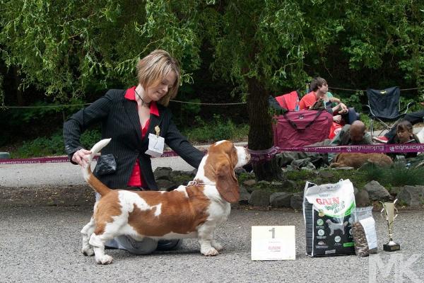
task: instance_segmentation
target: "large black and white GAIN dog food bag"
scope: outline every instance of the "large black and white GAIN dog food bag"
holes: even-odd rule
[[[352,209],[355,209],[355,195],[350,180],[325,185],[306,183],[303,217],[307,255],[355,254]]]

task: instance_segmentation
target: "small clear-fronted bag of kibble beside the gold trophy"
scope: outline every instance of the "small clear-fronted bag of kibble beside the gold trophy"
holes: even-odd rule
[[[372,218],[372,207],[356,207],[352,211],[353,242],[355,253],[360,257],[377,253],[377,233],[375,220]]]

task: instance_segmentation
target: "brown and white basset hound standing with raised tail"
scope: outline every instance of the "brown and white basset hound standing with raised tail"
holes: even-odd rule
[[[83,227],[83,253],[95,255],[95,261],[112,262],[105,255],[105,243],[127,235],[137,241],[154,239],[198,238],[200,252],[217,255],[222,249],[213,234],[227,220],[230,202],[240,197],[234,168],[250,160],[247,149],[230,141],[212,144],[202,159],[196,177],[187,186],[171,192],[111,190],[95,178],[90,169],[93,155],[110,139],[102,139],[91,149],[84,178],[102,197],[95,203],[90,222]]]

